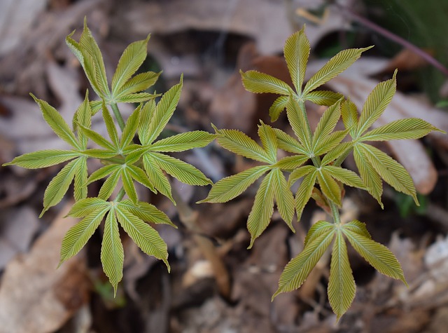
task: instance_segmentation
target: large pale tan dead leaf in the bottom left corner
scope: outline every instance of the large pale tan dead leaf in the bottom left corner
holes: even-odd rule
[[[78,222],[63,218],[72,204],[28,254],[6,266],[0,287],[1,333],[54,332],[87,302],[90,283],[83,252],[56,269],[62,238]]]

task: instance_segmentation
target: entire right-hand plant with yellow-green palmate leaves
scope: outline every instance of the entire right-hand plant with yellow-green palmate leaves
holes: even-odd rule
[[[304,250],[284,269],[274,297],[280,292],[300,287],[323,252],[333,243],[328,297],[338,318],[349,308],[355,294],[345,239],[377,271],[405,282],[398,261],[386,247],[370,238],[363,223],[341,223],[338,208],[342,206],[344,185],[368,191],[382,207],[384,181],[397,191],[412,196],[418,204],[414,184],[405,168],[366,142],[417,139],[437,130],[419,118],[401,119],[370,130],[392,100],[396,72],[392,79],[379,83],[372,90],[359,116],[355,104],[343,95],[317,90],[351,66],[368,49],[342,50],[304,83],[310,46],[303,28],[290,36],[284,47],[293,86],[268,74],[253,70],[241,72],[246,90],[279,95],[270,107],[269,115],[272,121],[276,121],[286,109],[295,136],[261,123],[258,130],[260,146],[237,130],[215,128],[216,140],[223,148],[258,161],[261,165],[216,182],[209,196],[202,201],[229,201],[264,175],[247,221],[251,247],[255,238],[267,228],[274,212],[274,203],[281,217],[294,231],[293,216],[297,215],[297,220],[300,220],[305,205],[310,198],[314,198],[318,205],[330,212],[333,223],[321,221],[311,227]],[[309,125],[305,101],[328,107],[314,130]],[[344,129],[335,130],[341,121]],[[277,149],[290,155],[278,159]],[[341,166],[351,152],[359,174]],[[297,181],[300,185],[293,195],[290,186]]]

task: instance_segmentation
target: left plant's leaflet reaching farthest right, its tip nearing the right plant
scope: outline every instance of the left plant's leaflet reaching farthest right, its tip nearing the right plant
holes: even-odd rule
[[[215,139],[216,135],[194,130],[159,140],[148,147],[150,151],[175,152],[186,151],[197,147],[205,147]]]

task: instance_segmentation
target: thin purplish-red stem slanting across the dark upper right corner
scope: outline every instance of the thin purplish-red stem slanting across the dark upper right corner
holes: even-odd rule
[[[429,55],[425,51],[423,51],[421,48],[418,48],[414,44],[410,43],[406,39],[403,39],[402,37],[394,34],[393,32],[390,32],[383,27],[380,27],[379,25],[375,24],[374,22],[367,20],[367,18],[364,18],[361,15],[358,15],[357,13],[351,11],[351,9],[346,8],[345,6],[341,6],[339,4],[334,4],[337,8],[339,8],[340,11],[344,12],[345,14],[349,15],[350,18],[361,25],[364,25],[365,27],[373,30],[374,32],[377,32],[378,34],[381,34],[382,36],[386,37],[387,39],[390,39],[391,41],[395,41],[395,43],[400,44],[401,46],[404,46],[405,48],[408,48],[409,50],[412,50],[416,55],[419,55],[424,60],[426,60],[428,63],[432,64],[435,68],[440,70],[445,76],[448,76],[448,69],[447,67],[444,67],[444,65],[435,59],[432,55]]]

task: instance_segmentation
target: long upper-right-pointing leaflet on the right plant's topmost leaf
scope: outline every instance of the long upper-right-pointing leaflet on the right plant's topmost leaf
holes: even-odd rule
[[[372,48],[372,46],[368,48],[349,48],[337,53],[337,55],[328,60],[316,74],[311,76],[311,79],[308,80],[303,89],[303,95],[307,95],[311,90],[322,86],[338,74],[344,72],[344,70],[349,68],[353,62],[358,60],[361,53],[369,48]]]

